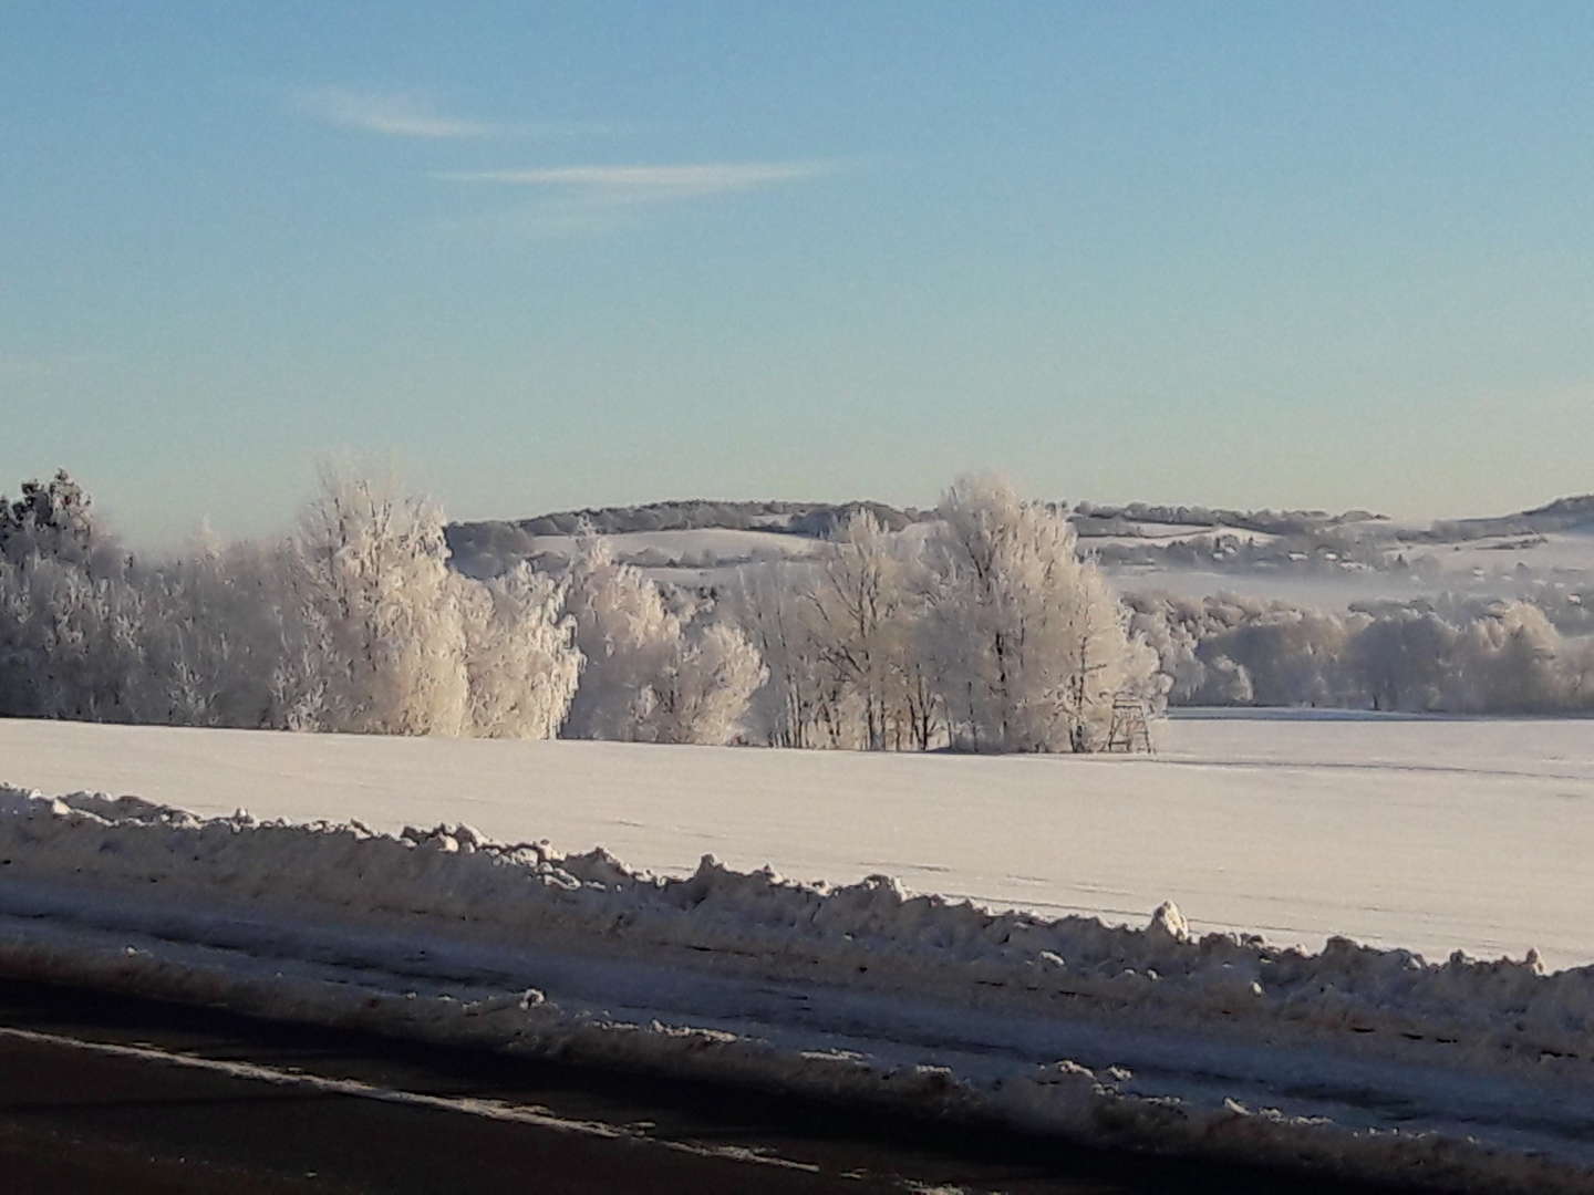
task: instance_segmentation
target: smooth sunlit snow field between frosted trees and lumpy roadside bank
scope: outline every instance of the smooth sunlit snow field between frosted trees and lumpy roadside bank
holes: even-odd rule
[[[1197,714],[1151,758],[971,758],[0,720],[0,781],[1567,967],[1594,961],[1591,727]]]

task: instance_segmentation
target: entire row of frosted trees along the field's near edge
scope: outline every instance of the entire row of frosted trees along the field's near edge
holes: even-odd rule
[[[0,523],[0,715],[370,735],[1093,750],[1159,699],[1066,518],[993,480],[940,521],[862,508],[716,601],[582,537],[558,572],[451,567],[443,516],[325,472],[293,534],[121,553],[61,475]]]

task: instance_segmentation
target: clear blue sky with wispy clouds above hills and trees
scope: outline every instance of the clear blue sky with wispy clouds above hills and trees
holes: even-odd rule
[[[1586,3],[0,3],[0,486],[1594,491]]]

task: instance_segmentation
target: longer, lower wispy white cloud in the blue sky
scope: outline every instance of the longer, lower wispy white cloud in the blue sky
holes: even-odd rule
[[[835,163],[703,163],[693,166],[547,166],[526,170],[442,170],[434,178],[563,191],[598,204],[639,204],[751,191],[834,174]]]

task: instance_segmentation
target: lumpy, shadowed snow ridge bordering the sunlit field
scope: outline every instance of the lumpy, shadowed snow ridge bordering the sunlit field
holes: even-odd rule
[[[1081,1001],[1168,1023],[1298,1026],[1463,1045],[1494,1066],[1586,1061],[1594,967],[1545,975],[1521,961],[1331,938],[1323,951],[1196,938],[1173,905],[1144,929],[1095,918],[993,913],[912,895],[889,876],[840,887],[705,856],[687,878],[626,868],[603,848],[502,844],[469,825],[375,833],[360,822],[199,819],[131,797],[46,798],[0,787],[0,865],[11,884],[132,895],[131,908],[314,915],[427,926],[478,943],[539,942],[628,958],[1031,1010]]]

